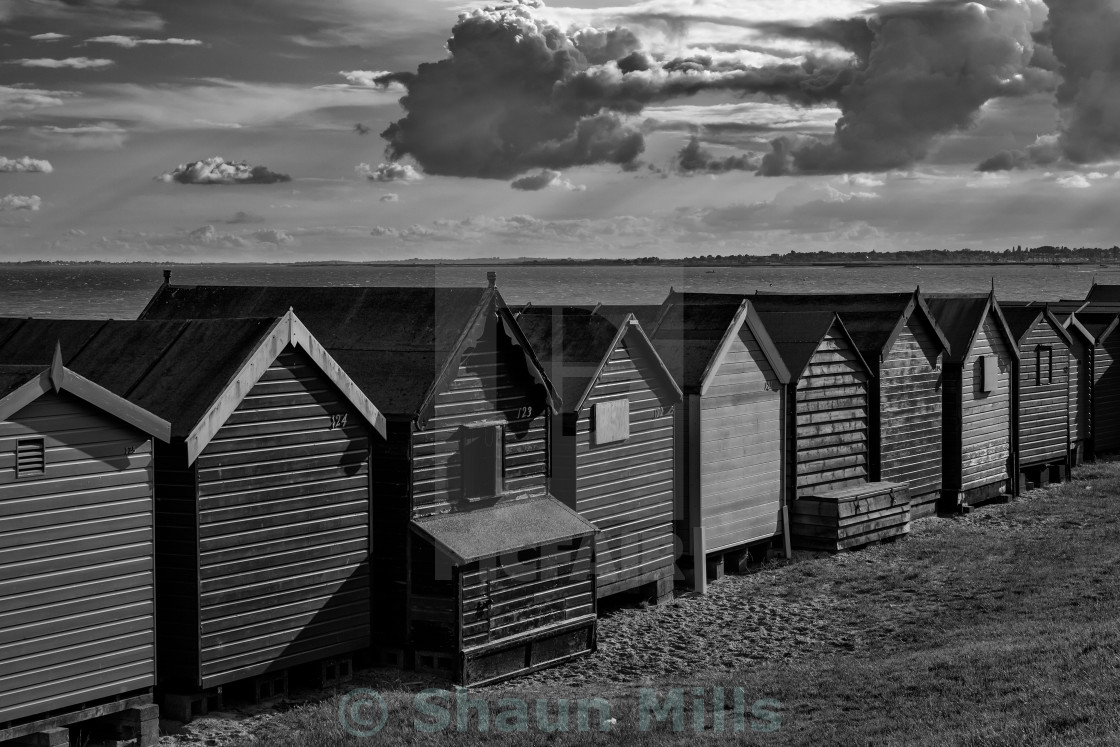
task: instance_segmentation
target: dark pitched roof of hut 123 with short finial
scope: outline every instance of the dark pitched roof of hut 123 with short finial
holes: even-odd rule
[[[292,308],[385,415],[423,421],[459,361],[498,320],[522,348],[530,374],[556,409],[557,395],[494,286],[487,288],[171,286],[164,283],[142,319],[277,316]]]

